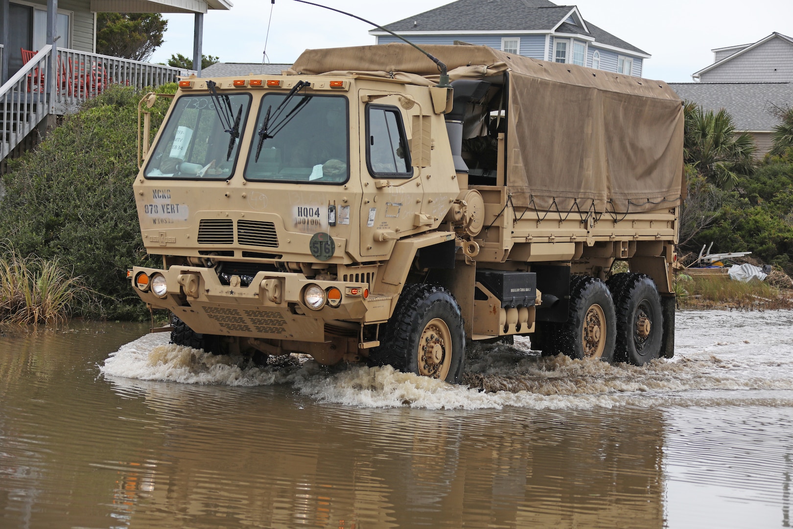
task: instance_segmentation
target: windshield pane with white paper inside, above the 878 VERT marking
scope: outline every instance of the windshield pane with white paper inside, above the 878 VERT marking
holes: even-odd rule
[[[239,130],[244,130],[249,94],[230,94],[234,115],[242,108]],[[229,135],[220,123],[215,100],[209,94],[186,95],[174,110],[146,166],[147,178],[205,178],[224,180],[234,172],[239,140],[228,155]]]

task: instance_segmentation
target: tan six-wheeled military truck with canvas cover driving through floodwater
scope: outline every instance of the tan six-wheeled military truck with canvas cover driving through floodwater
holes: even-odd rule
[[[452,382],[466,340],[671,356],[680,99],[665,82],[426,48],[451,86],[407,44],[179,82],[134,184],[163,268],[131,274],[174,313],[174,343]]]

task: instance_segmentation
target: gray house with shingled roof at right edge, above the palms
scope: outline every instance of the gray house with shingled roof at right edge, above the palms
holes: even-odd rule
[[[757,157],[771,149],[771,133],[782,109],[793,106],[793,38],[781,33],[711,50],[714,62],[691,77],[670,82],[681,99],[704,109],[726,109],[741,132],[757,141]]]

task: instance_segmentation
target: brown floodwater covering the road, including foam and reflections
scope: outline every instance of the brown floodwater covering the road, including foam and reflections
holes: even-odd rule
[[[0,527],[791,525],[791,312],[643,367],[475,347],[473,388],[146,332],[0,331]]]

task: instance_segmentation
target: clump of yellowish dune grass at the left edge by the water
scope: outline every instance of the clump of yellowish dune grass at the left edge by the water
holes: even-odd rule
[[[57,324],[90,305],[94,292],[59,259],[23,257],[8,245],[0,249],[0,322]]]

